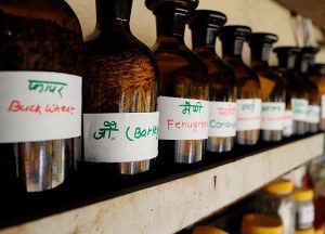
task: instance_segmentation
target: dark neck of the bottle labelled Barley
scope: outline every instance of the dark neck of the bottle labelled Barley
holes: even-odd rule
[[[133,0],[96,0],[96,28],[112,30],[116,27],[130,29]]]

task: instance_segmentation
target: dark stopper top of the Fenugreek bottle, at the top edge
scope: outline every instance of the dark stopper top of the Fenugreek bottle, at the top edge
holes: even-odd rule
[[[193,11],[198,5],[198,0],[145,0],[145,5],[148,10],[154,11],[154,13],[160,6],[171,8],[171,9],[185,9]]]

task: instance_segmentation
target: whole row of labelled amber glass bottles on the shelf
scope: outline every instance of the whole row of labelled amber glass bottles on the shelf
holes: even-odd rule
[[[324,77],[314,73],[311,81],[308,69],[316,49],[277,48],[280,66],[271,69],[275,35],[223,26],[223,13],[195,11],[198,0],[145,5],[156,16],[152,50],[131,34],[132,0],[96,0],[96,26],[84,43],[64,1],[0,2],[0,147],[4,161],[15,161],[0,166],[2,178],[16,167],[26,191],[38,192],[60,185],[73,161],[86,171],[138,174],[158,152],[157,165],[168,168],[235,142],[318,130]],[[186,24],[193,50],[184,43]],[[242,60],[245,41],[251,68]],[[294,116],[289,130],[285,108]]]

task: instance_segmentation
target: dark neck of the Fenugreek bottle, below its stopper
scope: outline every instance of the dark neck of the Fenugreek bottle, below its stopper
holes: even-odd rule
[[[157,38],[170,38],[184,42],[185,24],[188,13],[164,11],[156,13]]]

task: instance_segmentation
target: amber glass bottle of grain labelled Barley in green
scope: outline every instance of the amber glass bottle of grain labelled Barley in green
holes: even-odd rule
[[[157,66],[130,31],[131,9],[132,0],[96,0],[84,44],[82,165],[117,177],[150,170],[158,154]]]

